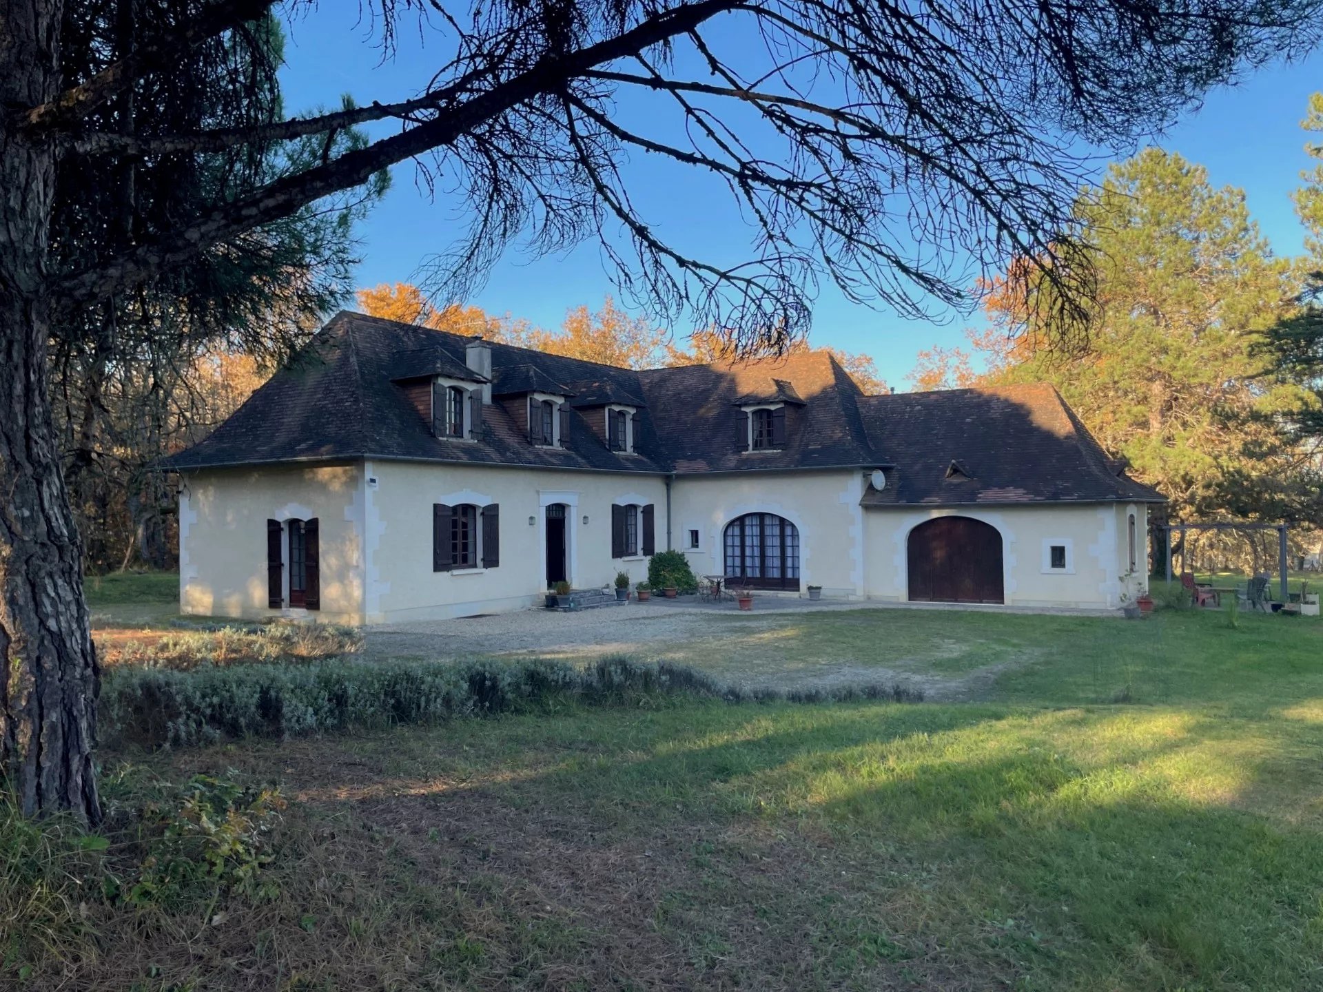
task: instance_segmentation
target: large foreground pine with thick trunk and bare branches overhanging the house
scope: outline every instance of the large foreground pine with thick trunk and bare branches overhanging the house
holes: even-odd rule
[[[217,246],[241,251],[263,226],[406,160],[445,176],[431,188],[471,218],[431,270],[439,299],[470,298],[515,239],[545,253],[598,238],[617,283],[659,323],[684,312],[745,344],[800,335],[820,279],[906,312],[962,303],[971,258],[990,269],[1045,259],[1078,311],[1088,272],[1053,265],[1078,247],[1076,139],[1126,139],[1245,65],[1304,50],[1318,5],[380,0],[369,22],[388,50],[409,16],[439,53],[409,95],[284,118],[259,67],[235,75],[237,99],[217,114],[159,128],[147,118],[106,127],[99,115],[200,49],[246,38],[273,3],[176,0],[173,19],[107,37],[94,61],[74,63],[74,38],[107,20],[107,4],[0,0],[0,767],[21,809],[101,815],[98,668],[48,385],[53,336],[81,333],[64,313]],[[128,0],[108,7],[134,20]],[[642,112],[619,112],[624,94]],[[370,120],[398,127],[336,143]],[[191,157],[311,136],[321,155],[253,188],[217,188],[73,259],[52,253],[70,155]],[[630,160],[643,152],[722,184],[754,225],[751,258],[717,261],[664,237],[631,192]]]

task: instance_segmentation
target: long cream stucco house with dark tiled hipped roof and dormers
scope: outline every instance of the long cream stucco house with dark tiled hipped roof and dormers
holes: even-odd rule
[[[184,612],[344,623],[527,608],[668,548],[766,594],[1117,607],[1162,500],[1050,386],[634,372],[348,312],[169,467]]]

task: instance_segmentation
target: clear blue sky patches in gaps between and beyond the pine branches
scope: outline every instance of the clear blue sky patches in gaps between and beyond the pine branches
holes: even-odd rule
[[[291,111],[336,104],[341,93],[360,103],[400,99],[415,93],[426,82],[429,66],[443,57],[435,40],[429,45],[417,32],[406,30],[396,57],[382,61],[370,25],[359,20],[356,8],[323,4],[315,15],[288,26],[282,78]],[[1319,56],[1271,66],[1238,86],[1209,94],[1201,108],[1154,143],[1204,165],[1213,184],[1244,189],[1274,250],[1298,253],[1302,231],[1290,193],[1299,184],[1301,169],[1308,165],[1299,122],[1308,95],[1316,90],[1323,90]],[[422,261],[446,249],[460,230],[454,205],[443,196],[430,200],[411,165],[397,167],[393,179],[390,192],[360,230],[360,286],[410,279]],[[747,257],[747,229],[724,213],[716,196],[710,185],[680,172],[650,183],[642,205],[646,216],[677,243],[701,245],[730,261]],[[595,243],[586,243],[569,254],[540,259],[509,253],[470,302],[488,312],[557,327],[566,310],[583,303],[595,308],[609,292],[611,283],[601,251]],[[823,287],[814,311],[812,341],[873,356],[882,377],[906,389],[905,374],[921,349],[963,344],[963,328],[976,321],[976,315],[950,315],[945,323],[906,320],[885,310],[852,304],[833,287]],[[677,336],[687,331],[673,329]]]

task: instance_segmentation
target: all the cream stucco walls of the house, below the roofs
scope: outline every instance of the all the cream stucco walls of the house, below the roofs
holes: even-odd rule
[[[213,470],[183,481],[180,608],[194,615],[282,614],[267,607],[269,518],[319,518],[321,608],[295,615],[343,623],[442,619],[541,603],[545,508],[553,503],[569,507],[568,567],[577,589],[609,585],[622,569],[631,586],[647,577],[643,556],[611,558],[613,504],[651,503],[656,549],[667,546],[665,481],[655,475],[366,462]],[[1147,587],[1144,504],[865,511],[859,505],[865,484],[860,470],[681,476],[671,495],[671,544],[696,574],[720,574],[726,524],[745,513],[775,513],[799,530],[800,591],[819,585],[832,598],[905,600],[909,532],[954,513],[1002,534],[1011,606],[1118,607],[1123,597]],[[499,504],[500,565],[433,571],[435,503]],[[1132,575],[1130,513],[1136,533]],[[699,532],[697,548],[689,546],[691,530]],[[1053,544],[1068,549],[1064,571],[1049,567],[1046,549]]]

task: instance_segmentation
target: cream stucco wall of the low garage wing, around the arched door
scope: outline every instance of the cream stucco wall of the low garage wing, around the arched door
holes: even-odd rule
[[[1135,513],[1136,561],[1127,577],[1127,513]],[[864,512],[865,587],[869,598],[909,598],[906,542],[910,530],[941,516],[964,516],[1002,534],[1008,606],[1115,608],[1122,593],[1147,589],[1144,504],[1037,504],[1028,507],[897,507]],[[1068,567],[1050,569],[1048,548],[1066,548]]]

